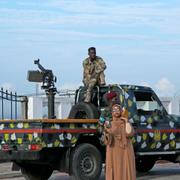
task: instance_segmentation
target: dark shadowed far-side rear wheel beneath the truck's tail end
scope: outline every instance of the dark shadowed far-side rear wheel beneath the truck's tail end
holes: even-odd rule
[[[21,172],[26,180],[47,180],[53,170],[46,165],[21,165]]]

